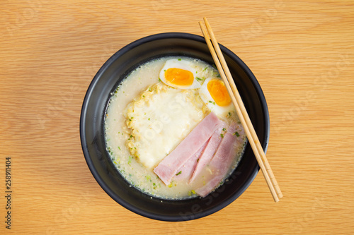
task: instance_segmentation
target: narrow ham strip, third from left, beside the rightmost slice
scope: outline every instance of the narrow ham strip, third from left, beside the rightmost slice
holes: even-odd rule
[[[217,147],[219,147],[219,144],[222,141],[221,134],[223,129],[226,128],[226,126],[226,123],[222,122],[222,125],[217,128],[217,130],[212,134],[212,137],[210,137],[210,140],[208,141],[205,150],[202,152],[202,155],[198,160],[198,164],[195,167],[195,171],[193,172],[189,183],[193,183],[195,177],[200,174],[202,169],[204,169],[204,167],[210,162],[210,160],[214,156],[215,152],[217,151]]]

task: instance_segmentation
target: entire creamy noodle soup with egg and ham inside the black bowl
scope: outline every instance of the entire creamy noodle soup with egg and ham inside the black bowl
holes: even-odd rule
[[[205,196],[232,173],[246,136],[210,64],[154,59],[111,93],[105,143],[120,174],[157,198]]]

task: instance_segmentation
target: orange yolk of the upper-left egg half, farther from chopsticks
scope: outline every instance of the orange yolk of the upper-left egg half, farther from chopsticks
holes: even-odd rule
[[[192,85],[193,73],[182,68],[169,68],[165,71],[165,79],[173,85]]]

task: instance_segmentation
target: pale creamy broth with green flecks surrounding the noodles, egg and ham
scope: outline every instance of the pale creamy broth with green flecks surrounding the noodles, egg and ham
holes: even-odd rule
[[[185,199],[198,196],[193,190],[193,184],[190,185],[188,181],[174,179],[169,186],[166,186],[154,174],[154,171],[144,167],[138,157],[132,155],[131,150],[127,147],[127,140],[132,137],[125,116],[128,104],[137,99],[149,86],[161,83],[161,80],[159,80],[161,68],[164,67],[166,60],[172,58],[193,61],[201,83],[205,78],[218,75],[217,70],[204,61],[181,56],[155,59],[139,66],[122,80],[115,92],[111,94],[104,123],[105,143],[118,171],[132,186],[157,198]],[[236,114],[233,113],[233,117],[234,121],[239,123]],[[227,176],[232,173],[232,170],[238,164],[246,143],[243,130],[238,131],[237,135],[240,135],[239,148]]]

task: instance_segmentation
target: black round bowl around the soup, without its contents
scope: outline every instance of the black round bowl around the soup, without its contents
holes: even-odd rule
[[[238,56],[220,45],[261,144],[266,150],[269,116],[256,78]],[[161,56],[190,56],[214,64],[203,37],[181,32],[151,35],[132,42],[108,59],[93,78],[81,110],[80,135],[86,162],[103,190],[123,207],[144,217],[183,221],[205,217],[232,203],[256,177],[259,167],[246,146],[238,167],[223,186],[205,198],[161,200],[131,187],[115,169],[105,149],[103,121],[110,92],[137,66]]]

